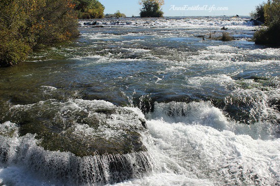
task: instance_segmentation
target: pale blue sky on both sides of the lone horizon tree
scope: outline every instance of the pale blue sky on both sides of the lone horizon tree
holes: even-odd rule
[[[115,13],[117,10],[120,10],[121,13],[126,14],[126,16],[139,16],[141,6],[138,5],[138,0],[99,0],[105,6],[104,13]],[[266,0],[165,0],[165,5],[162,7],[164,12],[164,16],[214,16],[214,15],[249,15],[251,11],[255,9],[255,7]],[[200,6],[203,7],[207,5],[207,10],[170,10],[172,5],[175,7],[183,7],[186,5],[187,7],[192,6]],[[209,8],[214,6],[218,7],[228,7],[226,11],[211,11],[209,12]]]

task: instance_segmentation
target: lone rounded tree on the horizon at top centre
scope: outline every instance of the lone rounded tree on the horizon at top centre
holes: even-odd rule
[[[139,4],[142,5],[140,12],[141,17],[162,17],[163,12],[160,7],[164,4],[164,0],[141,0]]]

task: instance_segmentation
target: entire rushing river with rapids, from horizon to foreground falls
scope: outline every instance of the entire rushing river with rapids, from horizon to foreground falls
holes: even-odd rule
[[[0,185],[280,185],[280,49],[247,18],[94,21],[0,69]]]

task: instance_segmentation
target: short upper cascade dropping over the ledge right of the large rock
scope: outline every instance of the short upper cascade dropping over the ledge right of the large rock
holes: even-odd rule
[[[262,108],[264,107],[269,110],[267,105]],[[279,117],[279,113],[276,111],[271,112],[271,114],[274,117]],[[182,122],[187,125],[207,126],[218,131],[227,130],[236,135],[249,135],[253,139],[269,140],[279,136],[277,123],[259,120],[251,125],[245,125],[226,117],[220,109],[214,107],[210,102],[155,103],[155,110],[149,114],[149,118],[157,118],[169,123]]]

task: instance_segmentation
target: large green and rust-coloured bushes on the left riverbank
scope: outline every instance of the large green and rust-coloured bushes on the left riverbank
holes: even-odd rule
[[[72,0],[1,0],[0,67],[23,61],[32,48],[78,36]]]

